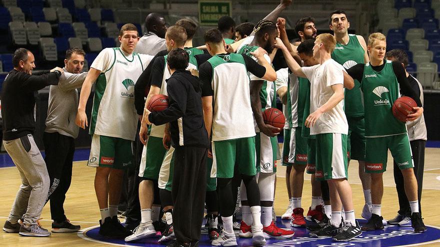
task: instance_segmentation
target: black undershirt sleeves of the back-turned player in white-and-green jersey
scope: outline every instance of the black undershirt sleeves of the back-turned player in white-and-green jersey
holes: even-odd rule
[[[226,53],[226,55],[229,53]],[[221,55],[221,54],[219,54]],[[244,59],[244,63],[246,65],[247,71],[252,73],[258,78],[261,78],[266,73],[266,68],[250,58],[247,55],[242,55]],[[231,75],[233,76],[233,75]],[[198,77],[203,83],[201,88],[201,96],[212,96],[214,95],[214,91],[212,90],[211,80],[212,80],[212,66],[208,62],[203,63],[198,67]]]

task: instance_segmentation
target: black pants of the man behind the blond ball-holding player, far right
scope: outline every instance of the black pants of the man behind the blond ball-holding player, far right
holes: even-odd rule
[[[412,160],[414,162],[414,175],[417,179],[417,198],[418,198],[418,210],[421,214],[421,190],[423,187],[423,168],[424,168],[424,147],[426,145],[425,140],[414,140],[409,142],[412,151]],[[394,161],[394,182],[395,189],[397,190],[397,196],[399,201],[399,215],[410,216],[411,208],[405,194],[405,187],[403,183],[402,172],[398,168]]]

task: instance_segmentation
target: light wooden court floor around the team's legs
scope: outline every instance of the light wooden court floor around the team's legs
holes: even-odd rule
[[[388,164],[391,163],[388,154]],[[440,149],[426,148],[422,207],[423,218],[426,225],[440,227],[440,210],[437,200],[440,198]],[[81,225],[81,229],[98,225],[99,210],[93,189],[93,178],[95,169],[85,166],[85,162],[75,162],[73,165],[73,177],[70,190],[66,195],[64,209],[67,217],[73,224]],[[275,212],[276,215],[284,213],[288,204],[287,191],[285,187],[285,168],[278,166],[277,184],[275,194]],[[310,177],[305,175],[303,189],[302,206],[307,208],[311,202]],[[398,210],[397,195],[394,188],[394,180],[392,177],[392,165],[389,166],[387,172],[383,176],[384,180],[384,197],[382,200],[382,215],[384,219],[391,219]],[[18,171],[15,167],[0,168],[0,224],[6,220],[15,193],[20,185]],[[353,161],[349,168],[349,182],[353,191],[353,201],[356,217],[360,218],[360,212],[364,204],[362,188],[360,180],[357,176],[357,162]],[[44,228],[50,229],[50,209],[46,205],[44,207],[41,224]],[[0,234],[0,246],[85,246],[94,247],[102,246],[102,244],[83,240],[73,234],[56,234],[53,233],[48,238],[30,238],[18,237],[17,234]],[[439,246],[440,243],[429,244],[425,246]]]

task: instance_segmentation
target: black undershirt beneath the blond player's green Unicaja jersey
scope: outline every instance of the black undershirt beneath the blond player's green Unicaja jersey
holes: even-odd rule
[[[384,61],[381,65],[378,66],[371,66],[371,68],[379,72],[385,67],[386,62]],[[363,76],[363,70],[365,68],[365,64],[358,63],[351,68],[347,70],[347,73],[353,77],[353,79],[358,80],[360,83],[362,83],[362,76]],[[421,107],[420,98],[417,96],[417,94],[414,92],[413,88],[411,87],[410,83],[408,82],[408,79],[406,78],[405,69],[402,67],[402,65],[399,62],[393,61],[392,62],[392,70],[394,71],[395,77],[397,78],[397,82],[400,87],[400,93],[403,95],[406,95],[410,98],[412,98],[417,106]],[[418,94],[420,95],[420,94]]]

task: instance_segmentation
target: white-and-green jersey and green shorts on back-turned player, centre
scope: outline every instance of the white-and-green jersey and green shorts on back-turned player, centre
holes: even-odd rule
[[[240,174],[253,176],[255,128],[244,58],[234,53],[218,54],[205,65],[212,71],[207,75],[211,78],[207,86],[213,92],[211,177],[232,178],[235,166]]]

